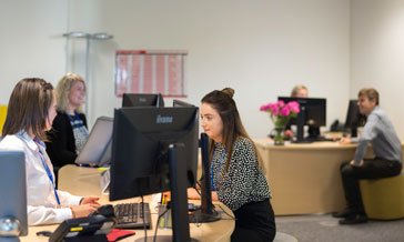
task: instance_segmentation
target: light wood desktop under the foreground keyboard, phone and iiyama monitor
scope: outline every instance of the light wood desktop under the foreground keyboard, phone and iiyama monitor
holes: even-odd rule
[[[122,203],[122,202],[140,202],[140,198],[120,200],[114,202],[109,202],[108,195],[101,195],[100,191],[100,172],[93,168],[79,168],[72,164],[65,165],[59,170],[59,189],[68,191],[74,195],[98,195],[100,196],[100,202],[105,203]],[[151,196],[145,198],[147,201],[151,201]],[[233,214],[231,210],[221,204],[223,209],[226,210],[229,214]],[[151,208],[153,213],[153,208]],[[223,218],[228,215],[223,214]],[[156,214],[152,214],[152,229],[148,230],[148,236],[154,234],[154,228],[156,222]],[[37,236],[36,232],[49,230],[54,231],[58,225],[41,225],[41,226],[30,226],[28,236],[21,236],[20,240],[23,242],[40,242],[48,241],[48,238]],[[234,220],[220,220],[213,223],[203,223],[200,226],[195,224],[190,224],[191,236],[200,241],[230,241],[230,236],[234,230]],[[143,230],[135,230],[137,235],[129,236],[128,239],[121,241],[134,241],[137,238],[143,236]],[[171,230],[160,230],[159,235],[172,234]]]

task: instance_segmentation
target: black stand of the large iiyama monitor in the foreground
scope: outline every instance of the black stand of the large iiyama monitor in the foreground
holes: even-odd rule
[[[190,238],[190,225],[188,220],[188,195],[186,195],[186,158],[184,144],[169,145],[170,186],[171,186],[171,218],[172,236],[158,235],[156,242],[182,242],[199,240]],[[137,242],[154,241],[154,236],[140,238]]]

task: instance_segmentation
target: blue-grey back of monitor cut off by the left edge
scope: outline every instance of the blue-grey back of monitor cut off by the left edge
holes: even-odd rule
[[[24,153],[1,151],[0,165],[0,241],[3,241],[1,234],[4,236],[28,234]],[[18,220],[17,230],[11,229],[12,226],[6,221],[7,218],[11,221]]]

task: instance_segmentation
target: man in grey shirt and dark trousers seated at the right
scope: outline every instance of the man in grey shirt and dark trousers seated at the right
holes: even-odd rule
[[[360,112],[367,117],[363,131],[356,139],[342,139],[341,143],[358,142],[355,157],[341,165],[341,177],[344,186],[347,209],[333,214],[344,218],[340,224],[355,224],[367,222],[363,208],[360,179],[388,178],[401,173],[402,149],[392,121],[378,108],[378,92],[375,89],[362,89],[358,93],[357,105]],[[374,159],[363,159],[372,143]]]

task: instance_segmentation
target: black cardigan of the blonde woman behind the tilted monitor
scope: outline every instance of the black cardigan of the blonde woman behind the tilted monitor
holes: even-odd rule
[[[83,113],[79,113],[80,120],[87,128],[87,120]],[[52,130],[48,132],[47,153],[53,167],[61,168],[64,164],[74,164],[78,157],[73,128],[67,113],[58,112],[52,123]]]

